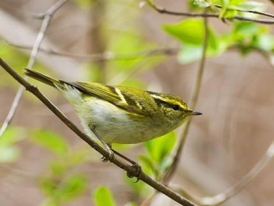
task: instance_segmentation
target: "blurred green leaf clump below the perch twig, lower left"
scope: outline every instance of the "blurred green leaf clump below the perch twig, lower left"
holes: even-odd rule
[[[43,205],[62,205],[87,191],[87,174],[74,169],[91,160],[89,151],[82,148],[72,150],[64,137],[50,130],[32,130],[29,140],[56,156],[38,178],[38,185],[46,196]]]

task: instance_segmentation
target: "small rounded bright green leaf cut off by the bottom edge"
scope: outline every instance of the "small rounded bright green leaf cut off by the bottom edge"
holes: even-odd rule
[[[115,201],[113,200],[113,196],[111,194],[111,190],[107,187],[100,186],[97,187],[93,194],[93,200],[95,206],[115,206]]]

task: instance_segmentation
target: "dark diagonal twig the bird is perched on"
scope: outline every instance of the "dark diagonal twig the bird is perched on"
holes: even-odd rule
[[[49,108],[62,122],[64,122],[71,130],[73,130],[78,137],[80,137],[82,140],[84,140],[89,146],[94,148],[96,151],[100,152],[101,155],[106,156],[109,153],[104,150],[100,145],[98,145],[95,141],[93,141],[89,136],[85,135],[82,133],[75,124],[69,121],[67,117],[56,108],[52,102],[50,102],[35,86],[32,86],[29,82],[27,82],[24,78],[19,76],[18,73],[14,71],[9,65],[7,65],[1,58],[0,58],[0,65],[10,73],[10,76],[12,76],[16,81],[18,81],[20,84],[25,87],[27,91],[30,91],[33,95],[36,96],[47,108]],[[180,203],[181,205],[185,206],[195,206],[194,203],[191,203],[188,201],[186,198],[183,198],[183,196],[180,196],[176,192],[170,190],[170,188],[166,187],[165,185],[159,183],[158,181],[155,181],[154,179],[150,178],[150,176],[146,175],[142,170],[139,170],[139,172],[136,171],[136,168],[133,167],[132,165],[128,165],[118,159],[117,157],[113,157],[113,159],[110,160],[111,163],[114,163],[117,165],[119,168],[122,168],[123,170],[127,171],[128,174],[131,174],[133,176],[137,176],[139,180],[144,181],[151,187],[155,188],[155,190],[158,190],[159,192],[165,194],[166,196],[169,196],[172,198],[172,200],[176,201],[177,203]]]

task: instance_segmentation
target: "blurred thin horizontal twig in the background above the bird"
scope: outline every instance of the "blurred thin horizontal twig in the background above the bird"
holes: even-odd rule
[[[32,47],[28,45],[21,45],[17,43],[10,43],[9,41],[5,41],[9,45],[20,49],[32,49]],[[69,52],[57,52],[54,49],[46,49],[43,47],[39,48],[39,51],[44,52],[45,54],[52,54],[56,56],[65,56],[69,58],[75,58],[78,60],[84,60],[89,62],[95,61],[109,61],[109,60],[135,60],[137,58],[146,58],[149,56],[159,56],[159,55],[176,55],[179,48],[175,47],[163,47],[163,48],[155,48],[155,49],[146,49],[137,52],[130,52],[127,54],[115,54],[114,52],[104,52],[98,54],[73,54]]]

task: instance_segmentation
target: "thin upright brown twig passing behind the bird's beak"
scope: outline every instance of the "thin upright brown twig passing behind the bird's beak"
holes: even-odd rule
[[[196,81],[194,84],[194,91],[192,92],[192,95],[191,95],[191,97],[192,97],[190,100],[191,108],[195,108],[195,106],[196,106],[196,103],[198,100],[198,95],[201,90],[203,71],[205,70],[205,58],[206,58],[207,42],[208,42],[208,35],[209,35],[207,17],[204,18],[204,27],[205,27],[205,37],[204,37],[204,41],[203,41],[203,54],[202,54],[199,68],[198,68]],[[185,144],[185,139],[186,139],[188,131],[190,129],[191,120],[192,119],[190,118],[187,121],[187,123],[185,124],[185,128],[183,130],[183,133],[181,134],[181,138],[179,140],[179,146],[176,149],[172,165],[170,165],[170,168],[168,168],[168,171],[163,176],[163,183],[165,183],[165,184],[169,183],[170,179],[172,179],[174,172],[176,171],[177,165],[181,158],[181,153],[183,151],[183,146]]]

